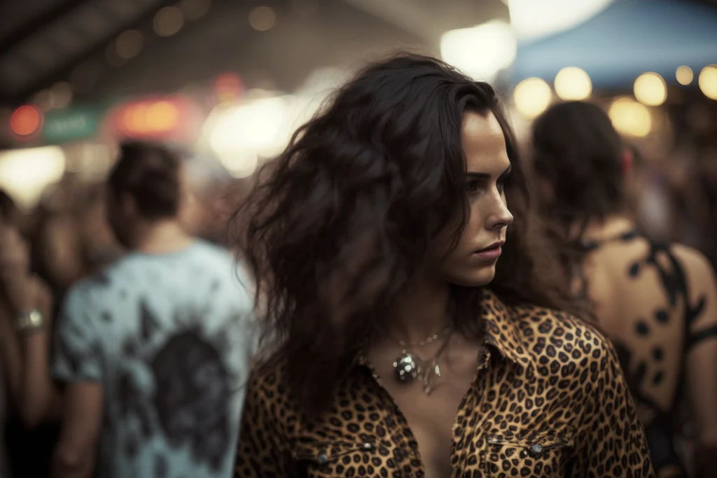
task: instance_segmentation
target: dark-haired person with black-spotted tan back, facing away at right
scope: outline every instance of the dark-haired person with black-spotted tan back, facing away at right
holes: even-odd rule
[[[655,242],[627,211],[632,154],[596,105],[566,102],[533,125],[533,168],[574,293],[594,306],[640,411],[659,477],[685,477],[680,407],[695,426],[694,474],[717,468],[717,285],[702,254]]]

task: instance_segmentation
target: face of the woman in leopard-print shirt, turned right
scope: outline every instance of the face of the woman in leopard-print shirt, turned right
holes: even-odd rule
[[[430,244],[428,264],[432,273],[447,282],[477,287],[493,280],[505,230],[513,222],[503,191],[511,161],[503,130],[493,113],[465,113],[461,139],[469,206],[465,229],[451,249],[460,224],[460,215],[456,214]]]

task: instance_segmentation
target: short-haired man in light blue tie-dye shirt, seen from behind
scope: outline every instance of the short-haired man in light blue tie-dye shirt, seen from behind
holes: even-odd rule
[[[125,143],[119,154],[106,204],[129,254],[74,285],[62,307],[53,476],[229,477],[254,343],[247,277],[181,228],[174,153]]]

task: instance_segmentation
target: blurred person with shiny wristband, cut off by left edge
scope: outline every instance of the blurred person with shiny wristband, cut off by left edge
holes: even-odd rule
[[[49,476],[59,396],[49,379],[52,294],[32,273],[22,219],[4,201],[0,220],[0,361],[11,413],[4,428],[10,476]],[[33,320],[28,320],[32,318]]]

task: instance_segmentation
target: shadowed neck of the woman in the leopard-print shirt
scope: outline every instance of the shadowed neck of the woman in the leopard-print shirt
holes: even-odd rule
[[[389,310],[380,332],[387,338],[417,343],[450,323],[450,285],[420,274]]]

